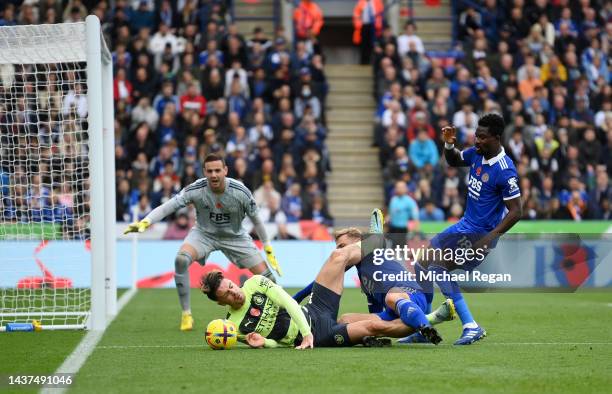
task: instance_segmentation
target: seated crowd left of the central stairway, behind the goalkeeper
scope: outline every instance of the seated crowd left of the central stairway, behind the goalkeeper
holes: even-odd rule
[[[247,40],[229,19],[229,6],[221,0],[116,0],[114,7],[5,1],[0,26],[78,22],[89,13],[100,18],[113,60],[118,221],[142,219],[202,177],[207,154],[220,153],[228,176],[253,191],[264,220],[332,225],[325,194],[327,82],[316,36],[292,46],[282,28],[271,39],[256,28]],[[66,105],[74,108],[84,96],[72,90],[61,100],[72,97]],[[37,103],[25,105],[34,110]],[[84,106],[71,116],[83,121]],[[40,197],[23,203],[59,204]],[[66,219],[40,220],[55,218]]]

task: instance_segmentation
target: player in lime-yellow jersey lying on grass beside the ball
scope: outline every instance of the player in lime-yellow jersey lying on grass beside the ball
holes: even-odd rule
[[[282,287],[262,276],[248,279],[241,288],[220,271],[213,271],[202,277],[201,289],[211,300],[229,306],[227,318],[246,336],[251,347],[352,346],[376,341],[375,336],[401,337],[415,329],[431,342],[439,343],[442,339],[437,331],[407,293],[396,293],[405,319],[336,321],[344,272],[362,260],[361,253],[360,242],[334,250],[319,271],[310,300],[303,307]],[[404,324],[404,320],[409,324]]]

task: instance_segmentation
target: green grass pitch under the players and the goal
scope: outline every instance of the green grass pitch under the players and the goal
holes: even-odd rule
[[[438,326],[444,342],[437,347],[297,351],[239,345],[213,351],[204,343],[204,328],[224,317],[224,308],[194,290],[196,328],[182,333],[175,290],[141,290],[108,328],[71,391],[609,392],[611,295],[468,294],[489,336],[466,347],[452,346],[461,332],[453,321]],[[358,290],[345,292],[342,311],[366,311]],[[82,335],[0,335],[0,374],[53,372]]]

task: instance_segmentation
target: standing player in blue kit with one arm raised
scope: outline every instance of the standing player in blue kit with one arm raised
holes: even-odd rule
[[[463,324],[463,333],[455,345],[469,345],[486,336],[467,306],[459,285],[450,278],[449,271],[462,269],[471,271],[480,265],[487,252],[493,248],[497,238],[510,230],[523,214],[519,180],[512,159],[506,155],[501,145],[505,122],[501,115],[490,113],[480,118],[476,129],[476,143],[473,147],[459,151],[455,148],[457,130],[454,126],[442,129],[444,138],[444,157],[453,167],[470,167],[468,195],[465,215],[431,240],[435,249],[472,249],[473,258],[465,259],[462,264],[453,261],[421,261],[415,265],[417,278],[424,279],[421,287],[431,305],[433,283],[436,280],[442,293],[453,300],[457,314]],[[485,253],[478,253],[478,249]],[[421,275],[429,271],[431,275]],[[400,342],[423,342],[426,339],[418,333]]]

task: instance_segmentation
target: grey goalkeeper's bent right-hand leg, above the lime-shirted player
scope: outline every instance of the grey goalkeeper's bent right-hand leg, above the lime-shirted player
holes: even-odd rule
[[[268,268],[266,262],[261,258],[261,253],[253,244],[250,237],[218,240],[217,247],[223,254],[239,268],[246,268],[253,275],[262,275],[276,282],[274,274]]]

